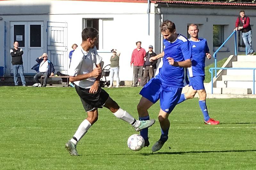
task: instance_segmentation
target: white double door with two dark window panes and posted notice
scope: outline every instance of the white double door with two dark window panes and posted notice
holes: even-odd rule
[[[44,52],[44,22],[43,21],[13,21],[11,26],[11,48],[13,42],[19,42],[22,48],[24,73],[35,73],[31,70],[36,64],[36,58]],[[11,72],[12,67],[11,67]]]

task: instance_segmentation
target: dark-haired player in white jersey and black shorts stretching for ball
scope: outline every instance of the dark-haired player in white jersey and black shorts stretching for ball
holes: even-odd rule
[[[99,32],[91,27],[82,31],[82,44],[74,51],[68,72],[69,80],[74,82],[76,92],[82,101],[85,112],[87,112],[87,118],[79,125],[74,136],[65,144],[67,151],[74,156],[78,156],[77,142],[98,120],[98,108],[107,107],[117,118],[130,123],[136,131],[148,128],[155,123],[154,119],[147,121],[134,119],[132,115],[121,109],[105,90],[99,87],[102,58],[98,55],[95,47],[98,42],[98,34]],[[96,65],[96,68],[93,69],[93,65]]]

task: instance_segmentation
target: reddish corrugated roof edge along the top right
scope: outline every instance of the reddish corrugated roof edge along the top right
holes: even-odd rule
[[[218,6],[256,6],[256,3],[244,2],[191,2],[191,1],[152,1],[155,4],[182,4],[182,5],[218,5]]]

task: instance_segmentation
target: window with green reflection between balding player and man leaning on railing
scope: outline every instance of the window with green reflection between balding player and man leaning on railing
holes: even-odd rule
[[[213,47],[220,47],[224,42],[224,25],[213,25]]]

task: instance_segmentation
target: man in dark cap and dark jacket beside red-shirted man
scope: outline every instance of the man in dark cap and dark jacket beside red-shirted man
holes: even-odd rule
[[[142,84],[143,86],[146,85],[148,81],[148,76],[149,76],[149,79],[154,77],[154,69],[156,69],[157,60],[154,60],[153,62],[149,61],[149,58],[153,56],[156,56],[156,53],[154,53],[153,51],[153,46],[150,45],[148,47],[148,52],[145,54],[145,57],[144,57],[145,63],[143,65],[143,70],[144,70],[143,84]]]

